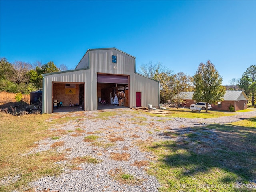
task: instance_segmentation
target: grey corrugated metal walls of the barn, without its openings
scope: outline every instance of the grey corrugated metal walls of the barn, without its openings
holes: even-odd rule
[[[112,55],[117,62],[112,63]],[[87,68],[84,69],[83,68]],[[115,48],[88,50],[76,70],[44,75],[43,112],[52,113],[52,82],[85,83],[84,109],[97,110],[97,74],[129,76],[129,107],[136,106],[136,92],[142,92],[142,106],[158,106],[159,82],[135,73],[135,57]]]

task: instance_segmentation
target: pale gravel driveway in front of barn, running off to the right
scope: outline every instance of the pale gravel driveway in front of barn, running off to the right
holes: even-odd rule
[[[142,113],[139,116],[120,110],[120,114],[112,116],[106,120],[90,118],[96,116],[98,112],[84,112],[84,116],[79,121],[70,121],[61,125],[61,129],[69,131],[58,140],[46,139],[39,142],[39,146],[32,153],[49,150],[54,142],[63,141],[64,146],[57,148],[59,152],[65,152],[66,158],[72,160],[76,157],[92,156],[102,160],[98,164],[79,164],[80,170],[65,168],[58,177],[44,177],[30,183],[36,191],[59,191],[59,192],[156,192],[160,187],[154,176],[148,175],[145,166],[134,166],[134,162],[154,161],[154,156],[149,152],[144,152],[136,145],[136,141],[157,141],[170,139],[163,134],[166,128],[178,129],[182,127],[203,126],[212,123],[228,123],[244,118],[255,117],[256,110],[252,112],[239,112],[234,116],[220,118],[170,118],[153,117]],[[70,113],[72,116],[76,113]],[[81,115],[81,113],[79,113]],[[57,115],[57,114],[53,114]],[[60,115],[60,114],[58,114]],[[58,127],[52,128],[52,130]],[[74,135],[74,131],[80,128],[83,133]],[[71,132],[73,131],[73,132]],[[85,142],[84,137],[88,135],[98,136],[97,142],[112,143],[114,146],[100,147]],[[123,138],[110,141],[111,138]],[[127,160],[114,160],[112,154],[130,154]],[[68,160],[56,162],[56,164],[66,164]],[[135,184],[122,184],[113,179],[109,174],[114,170],[122,170],[126,174],[134,176],[141,182]]]

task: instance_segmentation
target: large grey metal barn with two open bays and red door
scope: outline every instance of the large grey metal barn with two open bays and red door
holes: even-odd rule
[[[160,103],[159,82],[136,73],[135,57],[116,48],[88,49],[75,70],[43,74],[43,113],[57,102],[97,110],[115,94],[126,107]]]

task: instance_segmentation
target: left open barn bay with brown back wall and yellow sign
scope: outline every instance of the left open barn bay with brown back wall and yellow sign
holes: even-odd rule
[[[84,83],[55,82],[52,84],[52,112],[84,110]]]

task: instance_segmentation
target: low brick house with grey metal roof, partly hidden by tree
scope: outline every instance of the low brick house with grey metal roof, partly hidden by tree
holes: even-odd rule
[[[183,92],[184,101],[186,102],[186,106],[190,106],[191,104],[195,104],[196,102],[192,99],[194,92]],[[212,109],[214,110],[223,110],[229,111],[230,105],[233,105],[235,111],[247,109],[247,101],[249,100],[248,96],[246,96],[243,90],[234,90],[234,91],[226,91],[223,101],[219,101],[218,104],[212,104]]]

